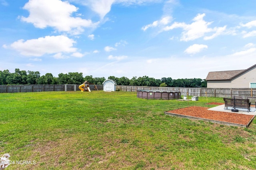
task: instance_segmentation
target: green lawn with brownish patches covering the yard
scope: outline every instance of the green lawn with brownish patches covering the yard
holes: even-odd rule
[[[135,92],[0,94],[0,154],[14,161],[7,170],[256,169],[255,119],[247,129],[164,115],[214,107],[207,102],[145,100]]]

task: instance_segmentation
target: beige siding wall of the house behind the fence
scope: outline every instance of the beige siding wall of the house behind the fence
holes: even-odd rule
[[[250,88],[251,82],[256,82],[256,66],[232,80],[208,80],[207,88]]]

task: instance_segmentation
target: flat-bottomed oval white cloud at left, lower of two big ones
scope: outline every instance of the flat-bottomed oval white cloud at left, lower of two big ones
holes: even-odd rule
[[[73,47],[74,43],[76,43],[76,41],[73,39],[59,35],[40,37],[27,41],[20,39],[12,43],[10,47],[25,56],[40,57],[45,54],[74,53],[77,50]]]

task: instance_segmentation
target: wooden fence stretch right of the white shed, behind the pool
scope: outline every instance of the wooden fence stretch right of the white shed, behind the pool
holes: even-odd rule
[[[256,97],[256,88],[180,88],[180,87],[148,87],[148,86],[116,86],[116,90],[126,92],[137,92],[137,90],[170,90],[180,91],[181,95],[198,96],[198,97],[216,97],[216,98],[232,98],[233,96],[241,96],[243,99],[247,97]]]

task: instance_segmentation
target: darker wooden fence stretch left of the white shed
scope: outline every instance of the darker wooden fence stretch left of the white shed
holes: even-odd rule
[[[103,85],[96,85],[98,90],[103,90]],[[77,84],[50,84],[50,85],[0,85],[0,93],[18,93],[18,92],[52,92],[52,91],[79,91]],[[90,90],[94,85],[89,85]]]

